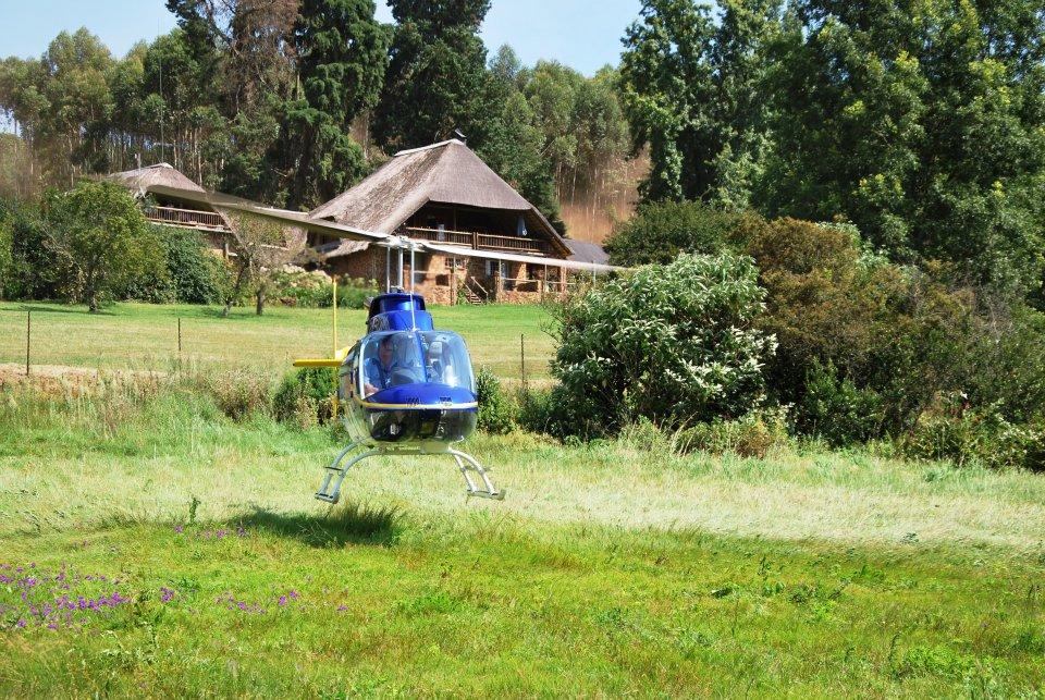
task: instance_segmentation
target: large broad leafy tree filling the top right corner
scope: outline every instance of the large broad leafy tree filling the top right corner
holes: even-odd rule
[[[1030,0],[797,3],[765,209],[843,216],[899,260],[1036,292],[1045,13]]]

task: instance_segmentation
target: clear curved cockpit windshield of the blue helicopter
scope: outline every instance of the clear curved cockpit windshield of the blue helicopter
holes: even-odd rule
[[[364,396],[392,386],[431,382],[475,391],[465,342],[447,331],[372,333],[359,358]]]

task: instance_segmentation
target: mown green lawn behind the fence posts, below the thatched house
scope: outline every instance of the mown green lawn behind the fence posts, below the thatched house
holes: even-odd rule
[[[231,363],[282,373],[294,358],[329,356],[333,345],[330,309],[271,306],[258,317],[237,308],[223,319],[217,307],[189,305],[116,304],[90,315],[82,306],[0,303],[0,363],[24,364],[27,310],[33,311],[30,359],[38,365],[164,370],[177,357],[179,318],[183,359],[204,366]],[[541,307],[433,307],[432,315],[438,328],[465,337],[477,367],[518,378],[525,335],[527,373],[548,376],[554,349]],[[341,344],[358,339],[365,322],[365,311],[341,309]]]

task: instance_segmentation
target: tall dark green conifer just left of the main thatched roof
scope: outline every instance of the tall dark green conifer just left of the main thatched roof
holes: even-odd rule
[[[388,65],[389,33],[372,0],[305,0],[295,25],[303,95],[283,108],[271,160],[291,208],[311,208],[364,170],[352,123],[373,107]]]

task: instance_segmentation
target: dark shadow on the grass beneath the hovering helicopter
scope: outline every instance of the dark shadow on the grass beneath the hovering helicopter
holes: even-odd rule
[[[325,516],[273,513],[262,508],[237,519],[281,537],[293,537],[309,547],[392,544],[399,532],[401,514],[395,507],[372,508],[356,503],[335,507]]]

